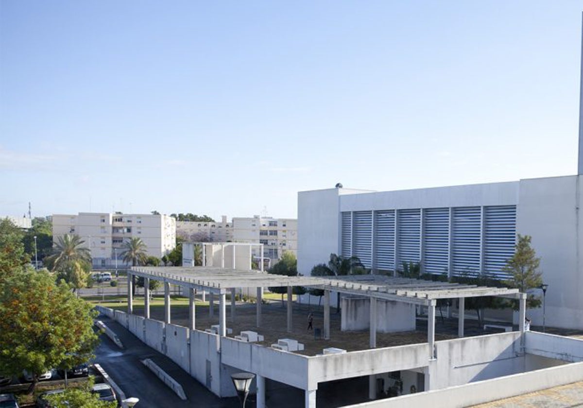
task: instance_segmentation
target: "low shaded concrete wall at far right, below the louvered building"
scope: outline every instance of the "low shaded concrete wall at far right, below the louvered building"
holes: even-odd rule
[[[583,340],[538,332],[526,332],[526,353],[578,363],[583,361]]]

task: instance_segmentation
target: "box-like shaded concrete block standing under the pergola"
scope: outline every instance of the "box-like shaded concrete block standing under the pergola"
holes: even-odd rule
[[[343,297],[342,330],[370,328],[370,298]],[[377,300],[377,332],[407,332],[415,330],[415,305]]]

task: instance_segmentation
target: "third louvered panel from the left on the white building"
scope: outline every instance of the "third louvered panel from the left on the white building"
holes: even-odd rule
[[[378,270],[395,270],[395,210],[374,213],[374,265]]]

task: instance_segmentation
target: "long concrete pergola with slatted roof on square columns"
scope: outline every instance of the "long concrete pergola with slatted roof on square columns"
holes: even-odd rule
[[[519,328],[524,331],[526,294],[518,289],[476,286],[447,282],[432,282],[417,279],[378,275],[354,275],[341,277],[281,276],[270,275],[253,270],[224,269],[220,267],[142,267],[134,266],[128,272],[128,283],[132,275],[142,276],[145,280],[144,316],[149,318],[149,280],[164,283],[164,322],[170,323],[170,284],[188,289],[189,328],[195,329],[195,291],[210,294],[209,314],[213,314],[214,296],[219,297],[219,335],[226,336],[226,294],[231,296],[231,316],[235,316],[235,297],[237,288],[257,288],[257,327],[261,327],[261,299],[264,287],[287,287],[287,331],[291,332],[292,288],[294,286],[324,289],[324,339],[330,338],[330,293],[370,298],[370,347],[376,347],[376,308],[377,300],[398,301],[424,305],[428,308],[427,343],[433,350],[435,343],[435,314],[437,300],[457,298],[459,300],[458,336],[463,337],[463,322],[466,297],[499,296],[519,300]],[[132,286],[128,284],[128,312],[133,312]],[[433,351],[430,358],[433,358]]]

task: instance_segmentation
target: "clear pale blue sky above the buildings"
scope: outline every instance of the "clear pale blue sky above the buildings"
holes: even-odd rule
[[[575,174],[578,1],[0,1],[0,214]]]

